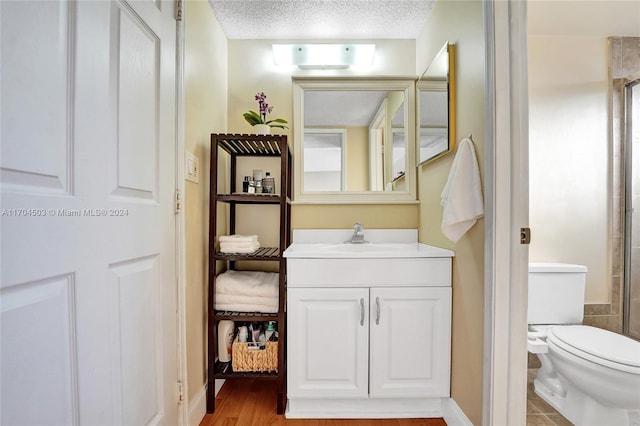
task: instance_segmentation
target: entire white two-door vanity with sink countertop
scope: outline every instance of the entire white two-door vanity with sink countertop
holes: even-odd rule
[[[453,252],[378,242],[371,231],[372,242],[360,245],[343,244],[348,235],[309,232],[324,240],[296,241],[294,231],[284,253],[285,415],[442,417],[450,400]]]

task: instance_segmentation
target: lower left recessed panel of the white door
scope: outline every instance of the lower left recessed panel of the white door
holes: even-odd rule
[[[2,398],[16,404],[7,413],[3,406],[2,424],[77,423],[74,276],[13,286],[2,292],[0,303]],[[21,364],[29,369],[12,368]],[[39,405],[51,408],[47,418],[38,413]]]

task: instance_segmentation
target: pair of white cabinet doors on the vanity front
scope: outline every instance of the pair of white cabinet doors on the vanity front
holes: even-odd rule
[[[291,288],[289,398],[449,396],[450,287]]]

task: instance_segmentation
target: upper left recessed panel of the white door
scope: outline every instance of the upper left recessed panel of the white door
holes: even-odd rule
[[[4,1],[0,15],[2,188],[70,194],[74,5]]]

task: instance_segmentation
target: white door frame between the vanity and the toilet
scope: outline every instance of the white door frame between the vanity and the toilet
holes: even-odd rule
[[[485,0],[483,420],[524,424],[527,380],[528,94],[526,1]],[[503,117],[508,117],[504,119]]]

